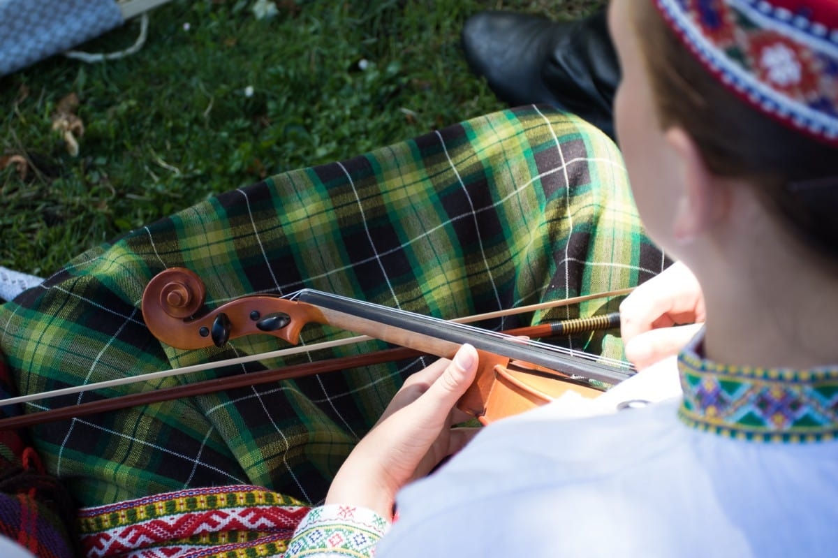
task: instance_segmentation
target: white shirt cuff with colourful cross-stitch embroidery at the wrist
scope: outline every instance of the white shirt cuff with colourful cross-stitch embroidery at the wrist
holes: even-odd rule
[[[288,545],[292,556],[374,556],[390,522],[371,509],[329,504],[308,512]]]

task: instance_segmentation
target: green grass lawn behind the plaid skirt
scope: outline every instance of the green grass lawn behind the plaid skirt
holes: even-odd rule
[[[63,56],[0,78],[0,265],[34,275],[220,192],[503,108],[459,32],[488,8],[577,18],[598,0],[173,0],[137,54]],[[80,49],[136,39],[128,23]],[[62,100],[79,153],[53,130]],[[16,161],[23,161],[20,165]]]

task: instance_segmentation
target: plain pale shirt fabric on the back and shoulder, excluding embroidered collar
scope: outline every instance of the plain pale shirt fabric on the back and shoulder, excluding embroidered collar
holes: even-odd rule
[[[576,414],[648,394],[633,380]],[[679,405],[573,418],[559,400],[499,421],[399,494],[376,556],[838,555],[838,442],[722,437]]]

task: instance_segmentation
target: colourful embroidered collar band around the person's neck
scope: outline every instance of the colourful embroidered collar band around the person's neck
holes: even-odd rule
[[[704,333],[678,357],[688,426],[757,442],[820,442],[838,437],[838,366],[809,370],[716,364],[704,359]]]

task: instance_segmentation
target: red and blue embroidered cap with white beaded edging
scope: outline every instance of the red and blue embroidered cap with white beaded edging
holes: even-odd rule
[[[716,78],[784,124],[838,146],[838,0],[654,0]]]

